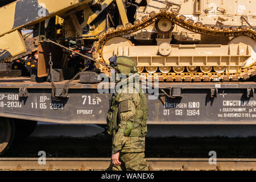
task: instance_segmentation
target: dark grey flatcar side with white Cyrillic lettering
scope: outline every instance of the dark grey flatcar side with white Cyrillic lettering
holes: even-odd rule
[[[62,88],[67,81],[55,82]],[[99,93],[99,84],[71,82],[68,98],[54,100],[51,82],[30,78],[0,80],[0,116],[55,123],[106,123],[112,96],[109,85]],[[164,92],[159,90],[164,88]],[[254,125],[255,82],[159,82],[145,87],[148,124]],[[27,94],[24,94],[24,90]]]

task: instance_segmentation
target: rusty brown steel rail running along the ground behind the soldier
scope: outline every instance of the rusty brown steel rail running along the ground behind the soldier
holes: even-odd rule
[[[250,170],[256,169],[256,159],[217,159],[209,164],[208,158],[147,158],[150,170]],[[46,158],[46,164],[39,164],[38,158],[0,158],[0,171],[87,171],[108,168],[110,158]]]

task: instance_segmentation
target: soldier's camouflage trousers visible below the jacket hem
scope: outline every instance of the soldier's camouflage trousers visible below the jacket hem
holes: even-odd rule
[[[147,171],[147,163],[144,152],[121,153],[119,156],[121,165],[114,166],[111,162],[108,171]]]

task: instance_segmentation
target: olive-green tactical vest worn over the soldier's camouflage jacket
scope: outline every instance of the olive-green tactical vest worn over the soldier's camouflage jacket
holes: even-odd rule
[[[119,121],[123,125],[126,125],[125,130],[118,129],[118,113],[122,110],[122,106],[118,102],[120,94],[117,94],[117,96],[113,94],[107,114],[108,134],[114,136],[117,131],[123,133],[126,137],[144,137],[147,134],[147,100],[141,88],[139,88],[138,92],[141,98],[141,109],[136,110],[134,121]]]

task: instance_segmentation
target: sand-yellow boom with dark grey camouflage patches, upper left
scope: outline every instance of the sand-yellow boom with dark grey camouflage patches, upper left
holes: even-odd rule
[[[19,0],[0,9],[0,60],[26,52],[22,28],[72,13],[91,0]],[[11,39],[10,39],[11,38]]]

